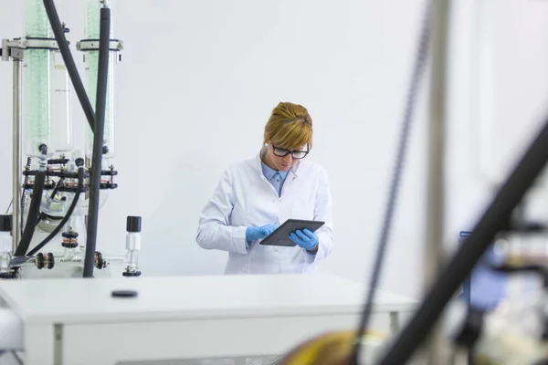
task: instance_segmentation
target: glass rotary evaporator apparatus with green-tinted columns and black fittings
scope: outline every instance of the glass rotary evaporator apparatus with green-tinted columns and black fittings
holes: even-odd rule
[[[25,36],[2,40],[2,60],[13,64],[13,200],[0,216],[0,277],[111,276],[111,266],[140,276],[141,217],[127,217],[126,255],[96,251],[98,211],[118,187],[114,73],[122,42],[112,36],[112,2],[86,3],[85,39],[76,44],[85,85],[58,3],[25,0]],[[75,148],[73,90],[88,121],[85,153]]]

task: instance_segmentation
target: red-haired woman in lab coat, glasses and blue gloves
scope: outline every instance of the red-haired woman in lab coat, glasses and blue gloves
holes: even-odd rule
[[[229,167],[200,215],[198,245],[228,251],[227,274],[314,271],[332,251],[332,198],[327,173],[303,160],[312,148],[304,107],[279,103],[257,157]],[[323,221],[315,233],[290,235],[293,247],[259,245],[287,219]]]

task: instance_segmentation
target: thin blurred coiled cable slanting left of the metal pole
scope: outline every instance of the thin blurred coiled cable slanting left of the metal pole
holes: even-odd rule
[[[353,363],[358,364],[361,357],[361,343],[364,333],[367,330],[369,324],[369,318],[371,317],[371,310],[373,308],[375,288],[377,287],[379,278],[381,276],[381,270],[385,259],[385,251],[390,235],[390,228],[392,225],[392,218],[395,211],[395,203],[397,200],[397,193],[402,172],[404,170],[404,162],[406,158],[406,147],[411,134],[411,122],[413,121],[413,112],[415,110],[416,95],[420,87],[420,81],[424,74],[424,70],[427,66],[428,56],[428,43],[429,43],[429,29],[430,29],[430,0],[427,0],[424,19],[422,22],[422,29],[419,36],[418,47],[416,50],[415,65],[413,67],[413,74],[411,77],[411,84],[407,94],[406,111],[404,114],[404,120],[400,135],[400,141],[397,149],[397,157],[394,166],[394,176],[390,186],[390,193],[388,195],[388,203],[386,204],[385,219],[381,228],[381,235],[377,245],[377,253],[375,256],[373,273],[371,281],[367,290],[367,298],[365,300],[364,311],[360,320],[360,325],[356,333],[356,341],[353,348]]]

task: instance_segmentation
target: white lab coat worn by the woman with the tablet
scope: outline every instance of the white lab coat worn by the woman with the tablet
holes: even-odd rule
[[[205,249],[228,252],[227,274],[305,273],[330,255],[333,245],[332,197],[327,172],[301,160],[288,173],[278,196],[263,175],[260,154],[229,167],[200,215],[196,242]],[[287,219],[323,221],[316,231],[316,255],[299,246],[247,245],[248,226],[283,224]]]

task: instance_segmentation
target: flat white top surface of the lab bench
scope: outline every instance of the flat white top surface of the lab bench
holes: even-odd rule
[[[324,275],[170,276],[0,282],[0,297],[26,323],[90,323],[357,314],[364,285]],[[138,297],[111,297],[112,290]],[[416,300],[377,291],[375,312],[406,312]]]

